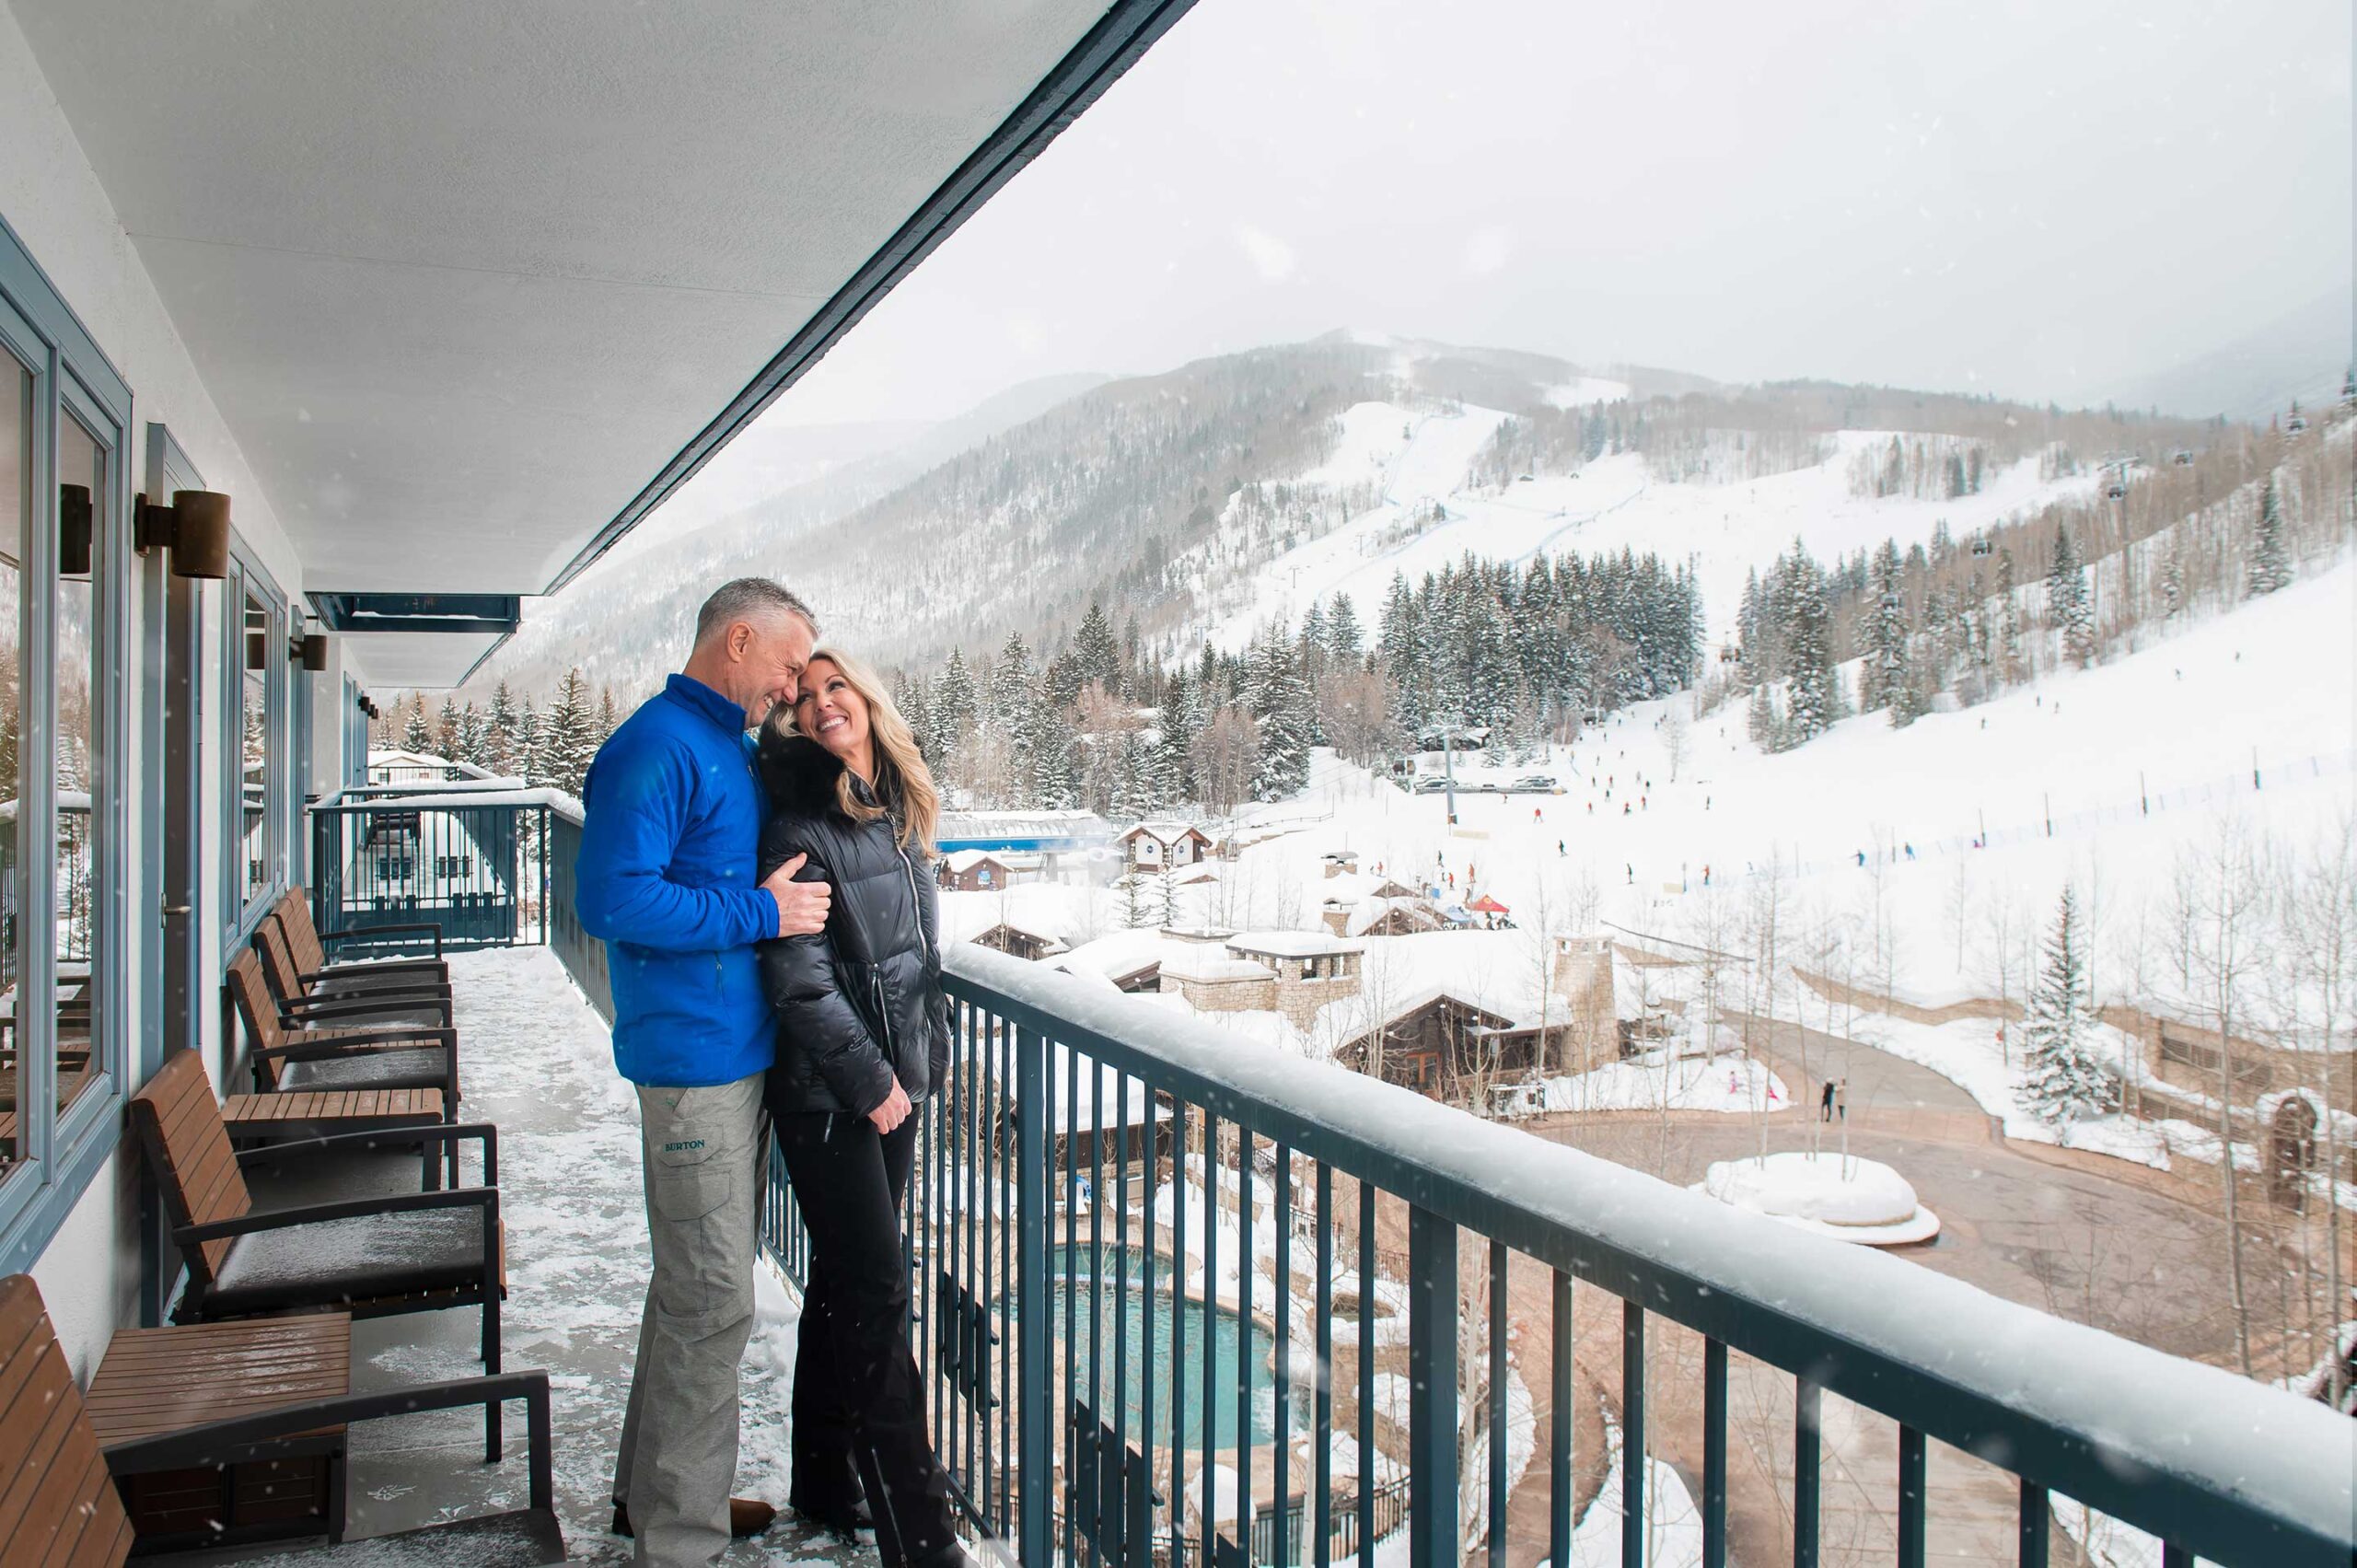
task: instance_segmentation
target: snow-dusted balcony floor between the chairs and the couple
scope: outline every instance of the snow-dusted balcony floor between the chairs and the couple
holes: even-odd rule
[[[507,1224],[507,1370],[544,1368],[556,1427],[556,1511],[570,1561],[627,1563],[608,1535],[613,1455],[629,1398],[629,1365],[646,1297],[646,1210],[639,1186],[639,1108],[613,1070],[606,1021],[580,997],[549,948],[450,957],[457,1002],[462,1115],[500,1127],[500,1217]],[[469,1179],[474,1179],[469,1174]],[[785,1507],[794,1304],[761,1273],[761,1323],[745,1356],[740,1497]],[[469,1377],[471,1311],[354,1325],[354,1386],[384,1389]],[[521,1507],[523,1405],[509,1405],[507,1460],[483,1464],[481,1412],[372,1422],[354,1431],[351,1535]],[[771,1535],[738,1542],[721,1563],[874,1563],[780,1514]]]

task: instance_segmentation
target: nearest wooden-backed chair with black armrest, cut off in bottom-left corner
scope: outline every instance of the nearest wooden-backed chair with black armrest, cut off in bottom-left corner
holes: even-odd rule
[[[148,1330],[186,1335],[186,1330]],[[170,1339],[148,1342],[170,1346]],[[148,1351],[141,1351],[148,1353]],[[318,1443],[354,1422],[424,1410],[500,1405],[521,1398],[530,1452],[528,1507],[483,1518],[410,1530],[420,1561],[469,1568],[535,1568],[566,1559],[556,1523],[549,1375],[462,1377],[384,1394],[283,1398],[269,1408],[207,1419],[177,1431],[148,1431],[101,1445],[90,1405],[66,1368],[57,1330],[31,1276],[0,1278],[0,1561],[7,1568],[123,1568],[132,1521],[113,1476],[243,1464],[273,1445]],[[196,1405],[189,1412],[203,1415]],[[384,1537],[321,1547],[285,1561],[382,1563]],[[148,1559],[153,1561],[153,1559]],[[165,1559],[170,1561],[170,1559]]]

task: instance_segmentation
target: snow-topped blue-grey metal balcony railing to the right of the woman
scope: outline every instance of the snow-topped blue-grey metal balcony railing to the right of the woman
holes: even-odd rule
[[[1162,1266],[1188,1276],[1186,1292],[1171,1297],[1171,1327],[1181,1318],[1197,1320],[1186,1294],[1207,1290],[1219,1304],[1233,1306],[1240,1320],[1266,1323],[1277,1335],[1273,1353],[1254,1351],[1240,1358],[1242,1370],[1216,1368],[1216,1377],[1204,1375],[1200,1403],[1193,1403],[1176,1377],[1171,1382],[1171,1396],[1188,1398],[1197,1412],[1226,1410],[1230,1401],[1240,1401],[1235,1408],[1242,1424],[1244,1412],[1270,1394],[1266,1382],[1254,1389],[1249,1368],[1289,1368],[1285,1335],[1294,1332],[1299,1346],[1296,1323],[1332,1318],[1325,1299],[1332,1243],[1348,1245],[1353,1233],[1353,1205],[1334,1203],[1334,1184],[1348,1184],[1365,1203],[1358,1257],[1386,1257],[1376,1243],[1374,1193],[1395,1205],[1395,1219],[1405,1210],[1412,1346],[1407,1382],[1414,1405],[1409,1469],[1431,1476],[1409,1509],[1407,1528],[1417,1537],[1417,1556],[1426,1561],[1457,1561],[1471,1544],[1459,1537],[1459,1521],[1468,1521],[1478,1540],[1478,1521],[1485,1516],[1478,1504],[1487,1502],[1487,1516],[1499,1516],[1504,1502],[1497,1493],[1475,1497],[1483,1481],[1473,1471],[1483,1469],[1478,1460],[1485,1452],[1485,1429],[1466,1422],[1459,1410],[1461,1401],[1494,1401],[1504,1386],[1497,1379],[1487,1379],[1487,1391],[1475,1386],[1483,1365],[1475,1349],[1480,1332],[1459,1325],[1461,1306],[1466,1316],[1485,1311],[1478,1269],[1466,1273],[1468,1294],[1459,1302],[1461,1228],[1490,1240],[1487,1327],[1494,1356],[1508,1344],[1501,1306],[1508,1252],[1558,1271],[1558,1358],[1567,1358],[1570,1349],[1570,1280],[1622,1299],[1624,1349],[1633,1346],[1633,1361],[1624,1365],[1622,1405],[1631,1450],[1643,1450],[1645,1443],[1645,1318],[1666,1318],[1704,1335],[1704,1410],[1718,1415],[1706,1417],[1716,1422],[1716,1436],[1706,1436],[1702,1509],[1706,1533],[1718,1533],[1721,1542],[1728,1507],[1725,1351],[1732,1349],[1796,1379],[1805,1481],[1794,1478],[1794,1518],[1805,1521],[1796,1528],[1810,1544],[1817,1518],[1813,1434],[1822,1431],[1817,1401],[1829,1391],[1900,1424],[1895,1469],[1902,1483],[1895,1509],[1902,1542],[1921,1542],[1928,1523],[1940,1523],[1935,1516],[1926,1521],[1923,1504],[1926,1441],[1937,1438],[2018,1474],[2025,1528],[2039,1533],[2053,1493],[2055,1504],[2062,1497],[2077,1500],[2218,1563],[2345,1568],[2350,1561],[2357,1427],[2296,1394],[2067,1323],[1914,1261],[1735,1212],[1624,1165],[1346,1068],[1240,1049],[1235,1035],[1211,1023],[1084,986],[1039,964],[959,946],[948,953],[945,969],[957,1002],[959,1066],[950,1096],[933,1101],[926,1118],[929,1141],[919,1153],[919,1170],[926,1174],[912,1195],[912,1224],[919,1231],[910,1245],[924,1259],[919,1285],[933,1292],[922,1306],[922,1320],[948,1325],[936,1332],[964,1337],[929,1346],[926,1368],[943,1384],[936,1389],[938,1401],[955,1408],[955,1398],[964,1394],[969,1403],[981,1401],[973,1408],[985,1431],[1002,1427],[999,1460],[990,1457],[988,1441],[981,1450],[973,1448],[971,1429],[962,1448],[952,1441],[945,1460],[969,1495],[983,1500],[985,1523],[1014,1526],[1028,1547],[1047,1544],[1049,1509],[1058,1516],[1077,1509],[1087,1528],[1096,1516],[1096,1500],[1051,1497],[1049,1488],[1018,1483],[1014,1476],[1049,1476],[1047,1460],[1056,1443],[1068,1450],[1077,1445],[1077,1452],[1065,1455],[1065,1488],[1087,1488],[1089,1476],[1108,1474],[1103,1467],[1138,1464],[1138,1457],[1122,1457],[1134,1455],[1127,1431],[1146,1431],[1153,1408],[1148,1403],[1136,1419],[1120,1410],[1120,1391],[1127,1386],[1122,1375],[1113,1377],[1110,1391],[1091,1391],[1105,1368],[1089,1368],[1087,1356],[1075,1361],[1075,1339],[1065,1327],[1054,1330],[1063,1344],[1051,1346],[1047,1320],[1070,1325],[1065,1302],[1072,1292],[1063,1302],[1049,1294],[1051,1280],[1063,1278],[1051,1276],[1049,1250],[1061,1245],[1070,1259],[1072,1245],[1087,1247],[1096,1269],[1105,1271],[1101,1285],[1113,1280],[1113,1266],[1143,1266],[1150,1316],[1157,1311],[1153,1269],[1160,1238],[1178,1231],[1162,1259]],[[1115,1139],[1120,1146],[1110,1151],[1108,1139],[1058,1139],[1023,1103],[1021,1092],[1025,1082],[1039,1085],[1047,1073],[1068,1070],[1058,1061],[1080,1061],[1084,1075],[1089,1061],[1113,1068],[1117,1092],[1127,1080],[1138,1080],[1171,1108],[1171,1120],[1134,1129],[1124,1134],[1127,1144]],[[1117,1236],[1115,1259],[1108,1261],[1094,1219],[1089,1236],[1080,1236],[1075,1214],[1087,1210],[1094,1217],[1096,1203],[1113,1198],[1115,1212],[1131,1217],[1124,1224],[1129,1233],[1141,1214],[1141,1200],[1129,1195],[1129,1170],[1153,1172],[1162,1158],[1188,1158],[1186,1139],[1195,1129],[1221,1139],[1223,1160],[1247,1146],[1256,1151],[1240,1167],[1242,1191],[1235,1203],[1223,1200],[1188,1236],[1186,1226],[1193,1221],[1183,1200],[1171,1200],[1178,1214],[1155,1221],[1155,1179],[1148,1177],[1138,1233],[1153,1245],[1131,1264],[1136,1243]],[[1075,1153],[1082,1146],[1087,1151]],[[1103,1167],[1108,1153],[1115,1160],[1113,1174]],[[1275,1210],[1280,1226],[1266,1243],[1254,1240],[1247,1250],[1240,1236],[1259,1236],[1256,1226],[1242,1228],[1254,1212],[1254,1177],[1244,1172],[1254,1170],[1263,1172],[1261,1214]],[[1115,1177],[1124,1184],[1120,1195]],[[1094,1203],[1068,1203],[1068,1188],[1075,1195],[1094,1193]],[[1336,1214],[1343,1224],[1339,1238],[1320,1236],[1315,1243],[1320,1302],[1315,1311],[1301,1311],[1301,1283],[1282,1247],[1294,1236],[1287,1212],[1301,1214],[1310,1203],[1315,1214]],[[1065,1228],[1061,1236],[1058,1224]],[[1310,1236],[1318,1236],[1315,1224]],[[1268,1257],[1270,1250],[1277,1250],[1275,1259]],[[1214,1261],[1211,1252],[1221,1257]],[[1249,1257],[1230,1257],[1247,1252]],[[1063,1264],[1075,1266],[1077,1259]],[[1136,1283],[1136,1273],[1124,1278]],[[1254,1280],[1277,1302],[1256,1306]],[[1117,1287],[1115,1302],[1120,1299]],[[973,1323],[985,1330],[990,1323],[1011,1323],[1004,1337],[1014,1344],[990,1349],[962,1327]],[[1523,1344],[1534,1344],[1530,1327],[1534,1325],[1523,1327]],[[1544,1327],[1544,1313],[1537,1327]],[[1113,1344],[1120,1346],[1127,1337],[1115,1335]],[[1105,1339],[1089,1327],[1080,1344]],[[1146,1344],[1157,1344],[1150,1323]],[[1108,1349],[1105,1361],[1120,1353]],[[1329,1358],[1332,1346],[1320,1344],[1318,1356],[1303,1365],[1327,1365]],[[1334,1382],[1346,1382],[1341,1368]],[[1308,1389],[1280,1372],[1275,1431],[1261,1438],[1270,1443],[1266,1452],[1273,1464],[1289,1452],[1294,1396],[1308,1396]],[[1572,1398],[1567,1365],[1558,1368],[1556,1396],[1563,1405]],[[1101,1403],[1105,1398],[1117,1408],[1108,1412]],[[1318,1419],[1327,1419],[1325,1405]],[[1560,1434],[1553,1481],[1570,1488],[1570,1457],[1563,1452],[1567,1424]],[[1148,1438],[1153,1448],[1157,1441],[1150,1431]],[[1228,1455],[1214,1462],[1214,1450],[1228,1441],[1244,1448],[1242,1462],[1233,1467]],[[1244,1431],[1219,1443],[1207,1438],[1204,1469],[1197,1481],[1188,1481],[1188,1441],[1181,1438],[1171,1457],[1181,1478],[1169,1495],[1200,1495],[1200,1476],[1219,1471],[1219,1509],[1228,1509],[1230,1485],[1249,1504],[1252,1441]],[[1313,1441],[1310,1452],[1318,1450],[1320,1443]],[[1471,1469],[1464,1455],[1475,1455]],[[1292,1471],[1299,1462],[1285,1464],[1280,1490],[1289,1485],[1285,1476],[1299,1478]],[[1492,1481],[1504,1490],[1506,1481],[1497,1471]],[[1266,1485],[1266,1476],[1261,1483]],[[1327,1485],[1332,1478],[1320,1471],[1313,1500]],[[1039,1511],[1037,1518],[1032,1509]],[[1631,1495],[1631,1509],[1643,1516],[1643,1495]],[[1221,1514],[1233,1516],[1240,1514]],[[1200,1523],[1197,1518],[1195,1526]],[[1178,1542],[1188,1523],[1174,1514],[1155,1530]],[[1219,1518],[1204,1528],[1207,1554],[1216,1533]],[[1424,1540],[1426,1533],[1433,1540]],[[1162,1542],[1155,1544],[1160,1549]],[[1025,1549],[1025,1561],[1028,1556]]]

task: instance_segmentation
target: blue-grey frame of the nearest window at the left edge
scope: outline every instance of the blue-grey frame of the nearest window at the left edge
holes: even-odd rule
[[[130,821],[132,391],[64,295],[0,219],[0,351],[33,380],[31,512],[19,573],[19,769],[57,743],[57,483],[61,420],[75,417],[106,462],[92,512],[92,1054],[90,1082],[57,1111],[57,773],[16,780],[19,1158],[0,1174],[0,1273],[31,1266],[123,1139],[130,1061],[130,920],[123,894]],[[40,898],[35,898],[40,889]],[[35,915],[40,913],[40,915]],[[42,1111],[47,1108],[47,1111]]]

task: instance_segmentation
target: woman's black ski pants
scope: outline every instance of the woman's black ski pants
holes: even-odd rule
[[[917,1568],[957,1540],[907,1342],[900,1200],[917,1118],[879,1134],[865,1115],[797,1111],[773,1118],[773,1127],[811,1231],[794,1353],[792,1495],[797,1507],[839,1507],[856,1469],[884,1568]]]

